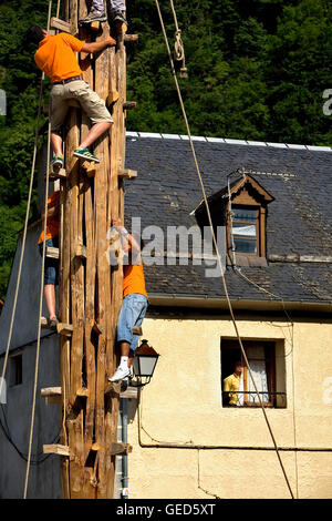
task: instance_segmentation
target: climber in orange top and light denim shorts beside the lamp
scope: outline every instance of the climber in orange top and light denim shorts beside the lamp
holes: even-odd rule
[[[117,381],[127,378],[131,374],[131,365],[138,341],[138,335],[133,334],[133,327],[142,325],[148,299],[145,289],[141,247],[126,228],[122,226],[121,219],[114,219],[112,225],[121,236],[124,253],[128,255],[128,263],[124,263],[123,266],[123,303],[116,331],[121,360],[114,375],[108,378],[110,381]],[[138,258],[139,262],[136,260]]]

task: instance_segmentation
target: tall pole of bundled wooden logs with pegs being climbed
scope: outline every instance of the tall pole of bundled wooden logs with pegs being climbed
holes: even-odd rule
[[[65,21],[77,35],[77,20],[86,16],[85,0],[65,0]],[[80,28],[85,41],[110,35],[102,25],[95,37]],[[97,33],[98,34],[98,33]],[[60,445],[64,498],[113,498],[114,443],[117,441],[118,396],[105,395],[107,378],[116,366],[115,328],[122,304],[122,266],[110,268],[106,256],[111,219],[124,213],[126,55],[124,35],[116,49],[97,55],[81,53],[84,80],[106,100],[115,90],[114,124],[95,144],[101,163],[86,175],[73,150],[89,132],[80,109],[70,109],[65,136],[66,178],[61,181],[60,320],[73,326],[71,336],[59,337],[62,421]],[[77,252],[84,249],[84,255]],[[85,255],[86,253],[86,255]]]

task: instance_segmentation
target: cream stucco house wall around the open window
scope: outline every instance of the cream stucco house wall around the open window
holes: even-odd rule
[[[262,318],[238,323],[242,338],[284,344],[287,408],[267,411],[281,447],[332,447],[332,326]],[[293,328],[293,333],[292,333]],[[225,317],[146,318],[144,337],[160,354],[141,396],[142,426],[159,442],[271,447],[260,409],[222,408],[220,337],[235,337]],[[293,343],[292,343],[293,337]],[[277,456],[268,450],[142,448],[131,400],[131,498],[288,498]],[[143,443],[156,443],[141,430]],[[294,494],[332,497],[332,453],[282,451]],[[199,469],[199,470],[198,470]],[[297,479],[298,474],[298,479]],[[201,487],[201,489],[199,488]]]

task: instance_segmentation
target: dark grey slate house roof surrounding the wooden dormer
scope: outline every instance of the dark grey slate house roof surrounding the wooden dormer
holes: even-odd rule
[[[137,170],[138,176],[126,182],[126,223],[141,216],[143,227],[196,224],[190,213],[203,196],[188,141],[128,134],[126,167]],[[245,167],[274,197],[268,208],[268,256],[332,256],[331,149],[206,139],[196,139],[195,149],[208,196],[226,186],[227,174]],[[332,303],[331,263],[269,263],[241,267],[241,272],[284,300]],[[205,277],[204,266],[177,262],[176,266],[146,266],[145,274],[151,295],[224,297],[221,280]],[[274,299],[231,267],[226,280],[234,299]]]

